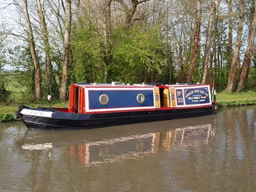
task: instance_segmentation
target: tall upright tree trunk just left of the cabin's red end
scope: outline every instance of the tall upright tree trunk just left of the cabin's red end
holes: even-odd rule
[[[71,0],[66,0],[66,22],[65,36],[63,43],[63,71],[61,80],[60,100],[66,99],[67,81],[68,81],[68,66],[70,63],[70,36],[71,36]]]

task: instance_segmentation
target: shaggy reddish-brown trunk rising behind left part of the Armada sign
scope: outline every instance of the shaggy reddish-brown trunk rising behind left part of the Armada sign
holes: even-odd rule
[[[193,48],[191,50],[191,59],[188,71],[187,82],[193,82],[193,76],[196,66],[196,60],[198,58],[199,42],[200,42],[200,26],[201,26],[201,2],[196,1],[196,21],[195,21],[195,33],[193,40]]]

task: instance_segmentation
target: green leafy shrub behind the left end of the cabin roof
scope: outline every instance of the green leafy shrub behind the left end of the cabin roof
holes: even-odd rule
[[[92,26],[77,26],[71,41],[71,82],[104,82],[101,42]]]

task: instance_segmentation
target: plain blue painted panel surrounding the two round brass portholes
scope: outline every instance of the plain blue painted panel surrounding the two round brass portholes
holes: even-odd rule
[[[140,104],[137,102],[136,97],[139,93],[145,96],[145,101]],[[109,102],[102,105],[99,97],[106,94],[109,97]],[[122,107],[146,107],[154,106],[154,93],[152,90],[112,90],[112,91],[88,91],[89,96],[89,109],[106,109],[106,108],[122,108]]]

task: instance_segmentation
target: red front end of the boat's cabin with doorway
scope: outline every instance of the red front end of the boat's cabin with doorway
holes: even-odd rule
[[[85,112],[85,91],[83,87],[71,86],[68,97],[68,112]]]

